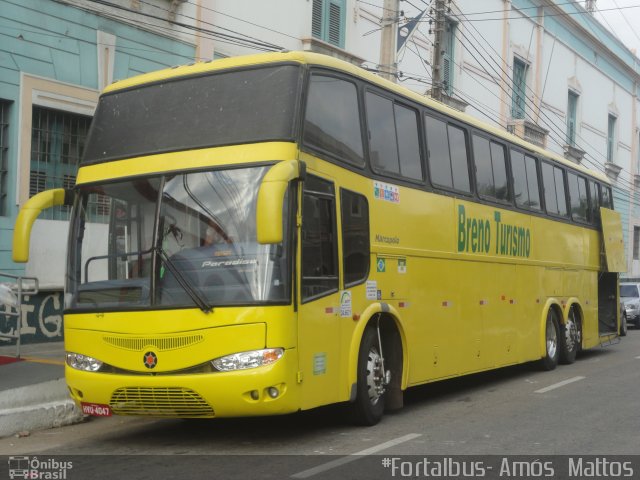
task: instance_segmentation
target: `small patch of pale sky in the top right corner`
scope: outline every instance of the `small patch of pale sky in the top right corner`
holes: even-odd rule
[[[597,0],[596,9],[600,23],[640,57],[640,0]]]

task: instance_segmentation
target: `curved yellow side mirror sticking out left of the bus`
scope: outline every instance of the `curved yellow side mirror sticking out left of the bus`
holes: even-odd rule
[[[13,230],[13,261],[24,263],[29,260],[29,240],[31,227],[42,210],[58,205],[73,205],[73,190],[55,188],[40,192],[25,203],[16,219]]]

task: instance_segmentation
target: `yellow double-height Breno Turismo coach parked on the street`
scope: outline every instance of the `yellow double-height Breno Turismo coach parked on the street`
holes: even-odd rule
[[[377,423],[405,389],[618,330],[607,178],[331,57],[197,63],[100,97],[72,191],[66,379],[91,415]]]

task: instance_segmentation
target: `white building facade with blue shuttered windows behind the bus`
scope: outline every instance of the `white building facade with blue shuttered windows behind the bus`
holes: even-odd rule
[[[622,215],[628,277],[640,276],[640,60],[584,8],[552,0],[214,0],[209,21],[286,49],[332,54],[605,173]],[[251,8],[248,8],[248,5]],[[384,56],[392,25],[395,64]],[[252,49],[214,41],[219,56]],[[253,50],[255,51],[255,50]]]

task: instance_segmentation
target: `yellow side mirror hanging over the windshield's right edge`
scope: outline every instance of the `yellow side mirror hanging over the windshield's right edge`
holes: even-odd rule
[[[304,167],[297,160],[276,163],[262,179],[256,205],[258,243],[282,242],[282,207],[289,182],[299,178]]]

